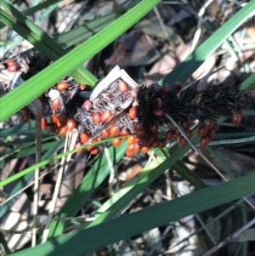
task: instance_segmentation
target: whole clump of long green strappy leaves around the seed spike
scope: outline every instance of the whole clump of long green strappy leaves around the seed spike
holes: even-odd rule
[[[27,78],[31,77],[28,81],[0,99],[0,109],[4,110],[0,115],[0,121],[3,122],[7,120],[8,117],[11,117],[16,111],[20,111],[20,109],[29,104],[31,100],[37,99],[39,95],[67,75],[74,77],[77,82],[88,83],[93,87],[97,82],[97,78],[87,70],[79,67],[79,65],[82,65],[84,61],[94,56],[94,54],[98,53],[102,48],[105,48],[109,43],[115,40],[116,37],[120,36],[123,31],[133,26],[159,2],[160,1],[142,1],[111,25],[99,31],[94,37],[89,38],[85,43],[74,48],[71,52],[66,53],[63,48],[59,48],[59,45],[56,45],[50,37],[40,36],[41,31],[37,26],[32,23],[28,23],[26,26],[26,17],[3,1],[3,3],[1,3],[2,8],[0,9],[0,14],[3,15],[2,21],[7,26],[20,33],[22,37],[25,37],[28,41],[33,43],[41,50],[42,54],[54,60],[54,63],[48,65],[48,67],[39,73],[37,73],[37,68],[35,68],[34,71],[31,69],[31,73],[27,73]],[[163,85],[167,82],[173,84],[175,81],[185,82],[188,77],[190,77],[191,73],[195,71],[236,28],[241,26],[242,22],[247,20],[251,14],[254,14],[254,9],[254,2],[247,3],[246,6],[227,21],[224,26],[221,26],[218,31],[215,31],[204,43],[201,43],[183,63],[164,77],[159,84]],[[52,54],[52,51],[54,54]],[[41,65],[41,62],[38,62],[38,65]],[[42,65],[44,64],[42,63]],[[254,75],[250,76],[241,84],[242,88],[251,87],[254,80]],[[220,89],[224,88],[221,87]],[[230,94],[232,96],[234,96],[234,94],[240,96],[241,98],[237,98],[239,99],[238,102],[241,102],[241,105],[234,110],[230,109],[230,112],[239,111],[243,107],[243,104],[246,104],[246,98],[241,93],[239,85],[234,87],[234,89],[235,92],[233,93],[233,91],[230,90]],[[210,91],[210,95],[207,95],[207,98],[209,96],[211,97],[212,93],[218,94],[217,89],[213,88],[213,90],[213,92]],[[184,91],[184,95],[181,95],[181,97],[184,97],[181,99],[187,100],[186,98],[192,96],[190,96],[192,92],[194,92],[194,88],[187,89]],[[224,92],[224,96],[231,97],[231,95],[229,95],[228,90]],[[188,101],[190,102],[190,100]],[[225,111],[228,113],[226,116],[229,116],[229,107],[231,106],[228,105],[227,108],[221,106],[220,111],[218,111],[213,118],[219,115],[225,115]],[[169,114],[174,116],[174,113]],[[21,126],[21,129],[26,129],[26,127],[26,125]],[[3,129],[3,133],[5,133],[6,137],[13,136],[14,133],[18,134],[18,132],[15,132],[13,128]],[[48,136],[48,138],[50,138],[50,136]],[[105,139],[102,142],[109,140],[111,139]],[[6,156],[10,154],[14,158],[31,154],[31,152],[35,151],[35,145],[32,144],[31,141],[30,144],[21,145],[20,148],[16,147],[13,151],[5,152]],[[193,145],[196,145],[199,138],[195,135],[190,141]],[[101,142],[98,142],[98,144],[100,143]],[[67,156],[76,151],[67,151],[64,154],[48,158],[53,153],[53,151],[50,151],[53,146],[55,150],[59,146],[59,141],[54,142],[54,145],[43,142],[42,150],[48,150],[48,153],[42,156],[42,162],[1,181],[0,185],[7,185],[24,175],[30,174],[38,167],[45,166],[49,162],[53,162],[56,159],[60,159],[62,156]],[[31,150],[30,152],[27,151],[28,148]],[[16,153],[17,149],[20,150],[20,155]],[[168,148],[165,148],[165,151],[156,151],[157,156],[155,161],[146,165],[136,177],[127,182],[110,200],[106,201],[94,214],[94,221],[80,225],[79,230],[65,236],[61,235],[64,233],[68,222],[64,220],[54,221],[49,228],[48,242],[37,245],[36,247],[21,250],[20,252],[14,253],[14,255],[82,255],[110,243],[117,242],[120,239],[137,235],[144,230],[165,225],[170,221],[183,218],[190,214],[199,213],[225,202],[240,198],[241,196],[249,196],[254,191],[254,174],[240,179],[234,179],[221,185],[204,188],[201,179],[194,176],[194,174],[190,174],[191,172],[189,172],[189,170],[186,170],[186,172],[180,174],[184,179],[189,180],[192,185],[200,188],[200,191],[191,193],[188,196],[175,198],[170,202],[163,202],[153,207],[144,208],[138,213],[128,213],[125,216],[114,218],[117,213],[122,212],[122,209],[125,208],[135,196],[139,195],[141,191],[163,174],[167,168],[175,165],[189,150],[190,145],[184,148],[175,145],[171,151],[168,151]],[[126,151],[126,143],[122,142],[122,145],[120,145],[117,150],[110,147],[109,151],[111,159],[115,159],[116,162],[119,162]],[[171,156],[169,156],[170,152]],[[82,179],[77,190],[71,193],[56,217],[65,218],[76,216],[81,206],[85,202],[88,202],[90,196],[99,188],[110,171],[111,168],[109,167],[107,157],[100,155],[88,171],[88,174]]]

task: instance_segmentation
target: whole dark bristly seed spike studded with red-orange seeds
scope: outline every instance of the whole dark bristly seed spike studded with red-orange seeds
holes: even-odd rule
[[[42,59],[40,54],[31,58],[34,59],[26,58],[29,66],[32,62],[36,63],[38,71],[45,67],[41,65],[43,61],[38,61]],[[48,65],[50,60],[45,63]],[[20,68],[15,60],[6,60],[3,64],[9,72]],[[22,75],[26,80],[34,74],[29,71]],[[190,126],[195,119],[201,122],[197,134],[201,137],[201,147],[205,147],[218,131],[217,118],[230,117],[239,126],[243,109],[252,99],[252,92],[244,92],[238,85],[206,88],[201,81],[187,88],[182,82],[174,82],[173,87],[168,83],[162,87],[154,83],[133,88],[120,78],[101,88],[101,91],[100,88],[94,90],[94,97],[85,91],[86,88],[86,85],[78,84],[71,77],[65,77],[43,94],[40,100],[45,104],[48,97],[52,115],[50,122],[42,118],[42,129],[66,134],[67,130],[77,128],[79,139],[76,147],[101,138],[128,135],[127,156],[133,156],[136,151],[162,148],[168,140],[178,139],[179,145],[187,145],[186,138],[192,136]],[[31,117],[33,115],[27,107],[21,110],[23,122]],[[182,128],[185,136],[171,119]],[[111,140],[115,147],[122,141],[116,138]],[[96,154],[99,148],[89,145],[87,151]]]

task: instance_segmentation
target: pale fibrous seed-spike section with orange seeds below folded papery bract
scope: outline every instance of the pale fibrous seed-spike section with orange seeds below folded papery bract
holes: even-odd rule
[[[81,101],[80,111],[74,113],[78,130],[80,131],[79,140],[83,144],[88,144],[99,141],[101,138],[107,139],[109,137],[130,134],[133,131],[133,123],[139,114],[138,107],[130,104],[130,106],[127,106],[127,109],[124,110],[114,108],[112,106],[116,102],[116,99],[114,99],[113,96],[116,95],[116,98],[118,97],[118,103],[122,104],[129,98],[134,98],[136,92],[136,88],[131,88],[127,82],[118,79],[116,82],[113,82],[109,88],[105,88],[105,90],[99,93],[96,100],[87,98]],[[111,99],[115,101],[111,102]],[[78,100],[77,98],[76,102]],[[79,107],[79,105],[77,105],[77,107]],[[116,117],[120,111],[124,111],[124,115],[112,121],[112,118]],[[129,128],[126,127],[126,122],[129,123]],[[112,139],[112,144],[115,147],[120,145],[121,142],[122,139]],[[88,146],[87,151],[90,151],[91,154],[95,154],[99,149]]]

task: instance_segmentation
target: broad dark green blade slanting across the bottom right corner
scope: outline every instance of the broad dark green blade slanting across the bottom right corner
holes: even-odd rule
[[[61,236],[13,255],[84,255],[113,242],[138,235],[146,230],[167,225],[171,221],[231,202],[241,196],[250,196],[255,191],[254,183],[255,174],[234,179],[224,184],[175,198],[169,202],[161,202],[156,206],[144,208],[136,213],[129,213],[111,219],[102,225],[87,230]]]

